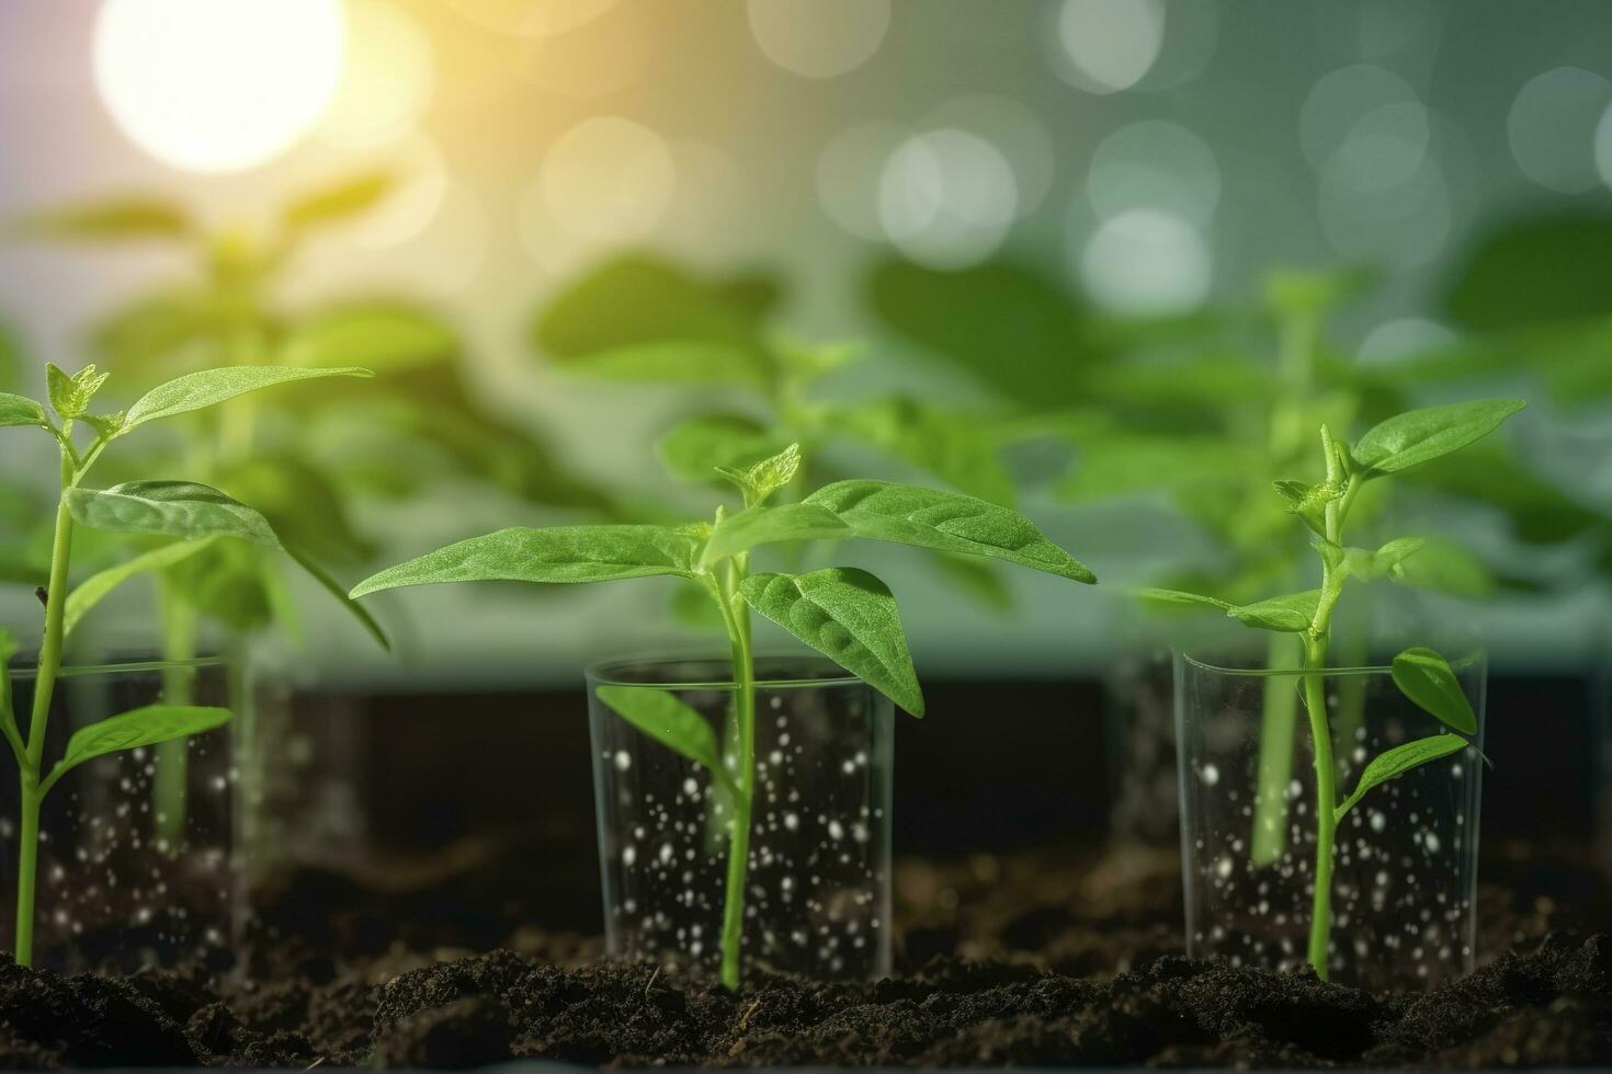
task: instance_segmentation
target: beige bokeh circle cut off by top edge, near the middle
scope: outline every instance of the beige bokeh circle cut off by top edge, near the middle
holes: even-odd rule
[[[856,71],[890,29],[890,0],[750,0],[746,10],[767,60],[808,79]]]

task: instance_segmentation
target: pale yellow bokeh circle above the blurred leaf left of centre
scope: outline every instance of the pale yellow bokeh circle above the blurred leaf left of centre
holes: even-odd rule
[[[629,242],[654,230],[677,187],[666,140],[619,116],[585,119],[555,142],[538,190],[555,222],[585,238]]]

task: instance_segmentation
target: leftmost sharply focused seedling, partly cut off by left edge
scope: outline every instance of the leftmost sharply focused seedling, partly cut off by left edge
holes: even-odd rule
[[[55,366],[45,367],[52,417],[42,403],[27,396],[0,391],[0,425],[32,425],[50,435],[61,454],[61,496],[56,504],[55,536],[50,556],[50,581],[40,594],[45,602],[44,641],[39,649],[39,671],[34,680],[32,710],[24,737],[18,713],[11,707],[11,683],[6,660],[16,651],[8,634],[0,634],[0,734],[16,757],[21,784],[21,837],[16,871],[16,961],[32,965],[34,958],[34,881],[39,860],[39,812],[45,795],[76,765],[93,757],[184,739],[224,725],[227,708],[189,704],[145,705],[100,723],[79,728],[68,741],[64,754],[45,766],[45,733],[50,725],[50,702],[61,670],[63,642],[69,631],[98,601],[121,583],[145,572],[168,568],[195,556],[214,541],[239,539],[269,549],[287,551],[327,588],[334,581],[297,552],[285,549],[268,520],[251,507],[224,493],[192,481],[124,481],[97,489],[85,485],[90,470],[106,449],[123,436],[150,422],[210,407],[226,399],[313,377],[368,377],[364,369],[279,369],[242,366],[189,374],[153,388],[127,411],[90,414],[89,407],[106,382],[87,366],[68,375]],[[90,436],[76,436],[79,430]],[[171,543],[131,560],[108,567],[69,588],[73,530],[76,525],[108,533],[155,535],[174,538]],[[345,601],[343,601],[345,602]],[[356,605],[348,604],[371,628]]]

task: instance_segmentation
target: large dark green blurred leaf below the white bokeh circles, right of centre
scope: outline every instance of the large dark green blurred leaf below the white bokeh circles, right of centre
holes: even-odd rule
[[[1090,398],[1085,374],[1099,354],[1082,332],[1085,311],[1051,274],[890,259],[874,269],[869,299],[891,328],[1009,399],[1046,409]]]

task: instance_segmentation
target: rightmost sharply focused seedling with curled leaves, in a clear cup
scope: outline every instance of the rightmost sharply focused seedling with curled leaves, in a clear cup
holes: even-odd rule
[[[1304,481],[1277,481],[1275,485],[1286,509],[1315,535],[1312,546],[1320,554],[1322,562],[1319,589],[1244,605],[1177,589],[1143,589],[1141,596],[1177,604],[1207,604],[1222,609],[1246,626],[1298,634],[1304,652],[1304,671],[1319,671],[1327,667],[1333,610],[1343,597],[1344,585],[1351,578],[1359,581],[1378,578],[1414,581],[1414,576],[1406,570],[1406,560],[1423,546],[1422,538],[1398,538],[1375,551],[1349,547],[1344,543],[1344,530],[1361,488],[1367,481],[1396,475],[1459,451],[1491,433],[1522,407],[1523,403],[1515,399],[1483,399],[1410,411],[1381,422],[1352,448],[1335,440],[1332,432],[1322,425],[1325,480],[1319,485]],[[1469,736],[1478,733],[1472,705],[1467,702],[1449,662],[1438,652],[1425,647],[1406,649],[1393,660],[1393,680],[1406,697],[1431,713],[1449,731],[1404,742],[1378,754],[1361,771],[1354,791],[1340,800],[1323,681],[1320,675],[1302,676],[1302,702],[1309,712],[1311,742],[1315,754],[1315,894],[1309,963],[1322,979],[1327,979],[1332,942],[1332,870],[1338,823],[1372,787],[1465,749]]]

